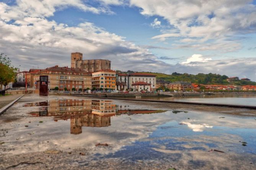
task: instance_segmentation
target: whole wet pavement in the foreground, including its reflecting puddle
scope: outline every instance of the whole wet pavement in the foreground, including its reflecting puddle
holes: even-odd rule
[[[26,95],[0,116],[0,169],[256,169],[255,135],[255,110]]]

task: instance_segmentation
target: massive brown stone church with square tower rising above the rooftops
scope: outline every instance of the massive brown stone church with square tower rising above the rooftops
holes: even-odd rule
[[[107,59],[86,59],[79,52],[71,53],[71,67],[82,69],[86,72],[96,72],[111,69],[111,61]]]

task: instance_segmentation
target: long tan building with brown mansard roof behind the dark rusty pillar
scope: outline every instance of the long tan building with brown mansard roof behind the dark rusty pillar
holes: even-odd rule
[[[91,74],[82,69],[74,69],[68,67],[49,67],[34,75],[34,85],[39,89],[39,76],[48,75],[48,89],[53,90],[59,87],[59,90],[83,90],[91,89]]]

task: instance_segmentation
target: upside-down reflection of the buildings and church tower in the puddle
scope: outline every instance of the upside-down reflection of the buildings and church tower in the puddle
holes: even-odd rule
[[[82,133],[82,127],[109,127],[111,117],[121,114],[151,114],[165,112],[148,109],[123,109],[109,100],[54,99],[26,103],[24,107],[40,106],[33,116],[54,116],[54,121],[70,119],[70,133]]]

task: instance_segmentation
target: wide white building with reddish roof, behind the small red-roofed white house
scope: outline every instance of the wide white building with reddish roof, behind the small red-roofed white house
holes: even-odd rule
[[[150,73],[132,73],[128,75],[128,88],[132,88],[132,84],[137,82],[145,82],[150,84],[150,90],[148,91],[155,91],[157,79],[156,75],[150,74]],[[144,87],[143,87],[144,88]]]

